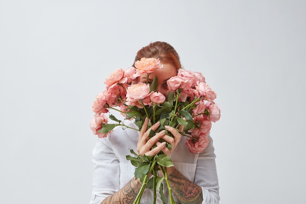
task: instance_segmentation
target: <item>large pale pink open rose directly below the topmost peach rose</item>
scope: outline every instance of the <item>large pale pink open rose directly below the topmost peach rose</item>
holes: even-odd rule
[[[127,90],[127,102],[134,102],[144,99],[150,93],[150,84],[139,82],[132,84]]]

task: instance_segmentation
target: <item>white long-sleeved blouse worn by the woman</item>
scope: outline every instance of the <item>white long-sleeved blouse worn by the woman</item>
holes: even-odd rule
[[[138,129],[131,121],[125,124]],[[126,159],[126,156],[134,156],[130,149],[137,152],[138,136],[139,132],[136,130],[118,127],[107,137],[97,139],[92,151],[94,168],[90,204],[100,204],[134,177],[135,167]],[[188,139],[186,136],[182,136],[171,155],[175,168],[202,188],[202,204],[219,204],[219,183],[212,138],[209,136],[208,146],[199,154],[189,152],[189,149],[185,147],[186,139]],[[166,185],[164,185],[164,191],[167,191]],[[174,199],[175,203],[179,204],[175,196]],[[153,203],[152,189],[145,189],[141,203]],[[162,204],[159,195],[157,195],[156,204]]]

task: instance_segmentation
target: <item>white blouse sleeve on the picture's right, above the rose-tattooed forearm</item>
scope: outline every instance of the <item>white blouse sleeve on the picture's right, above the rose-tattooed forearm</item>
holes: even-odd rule
[[[216,168],[216,155],[213,139],[209,136],[208,146],[199,154],[195,183],[202,188],[202,204],[219,204],[219,181]]]

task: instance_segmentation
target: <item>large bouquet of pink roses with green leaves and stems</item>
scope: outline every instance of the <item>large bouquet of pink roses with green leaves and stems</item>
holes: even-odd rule
[[[189,137],[185,143],[186,148],[189,148],[192,153],[204,150],[209,143],[208,133],[212,122],[220,118],[220,109],[214,102],[216,93],[205,83],[202,74],[178,69],[177,75],[167,81],[169,94],[166,100],[163,94],[156,91],[158,83],[156,77],[151,84],[148,80],[147,83],[136,83],[138,76],[145,74],[148,79],[150,73],[162,68],[160,61],[154,58],[142,58],[135,62],[134,66],[125,70],[116,69],[106,79],[106,90],[96,96],[92,106],[95,115],[90,123],[90,129],[93,133],[101,138],[107,136],[117,126],[131,128],[112,114],[109,118],[115,123],[109,124],[105,113],[115,110],[124,115],[125,119],[133,119],[139,128],[137,131],[140,131],[146,117],[149,118],[148,128],[160,121],[158,129],[155,132],[151,131],[149,137],[162,130],[166,131],[166,135],[171,136],[164,126],[168,125],[177,129],[182,125],[184,129],[180,132],[181,135]],[[171,149],[171,145],[168,144],[167,147]],[[172,160],[162,152],[154,157],[137,155],[133,150],[131,153],[134,157],[129,155],[127,159],[136,166],[135,178],[140,178],[143,183],[134,204],[140,202],[145,187],[153,188],[154,203],[157,189],[163,203],[167,203],[163,194],[163,180],[166,181],[171,204],[174,204],[167,179],[167,167],[173,166]],[[159,177],[159,170],[165,177]],[[152,178],[149,178],[150,174],[153,175]]]

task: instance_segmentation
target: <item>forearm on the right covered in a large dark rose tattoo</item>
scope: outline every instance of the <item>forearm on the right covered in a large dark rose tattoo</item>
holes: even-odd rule
[[[189,181],[174,167],[168,168],[168,179],[176,198],[182,204],[201,204],[203,201],[202,189]]]

